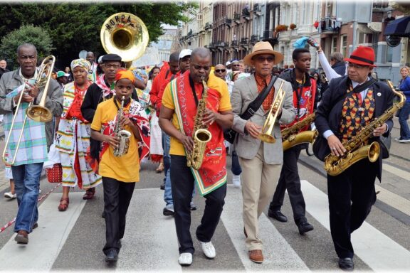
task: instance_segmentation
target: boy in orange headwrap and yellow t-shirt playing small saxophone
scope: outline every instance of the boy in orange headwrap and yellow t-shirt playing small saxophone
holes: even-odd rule
[[[117,262],[128,205],[135,182],[140,181],[140,161],[149,154],[149,122],[140,102],[131,98],[134,83],[135,76],[130,70],[118,70],[115,96],[98,105],[91,124],[91,137],[102,142],[99,173],[104,188],[106,243],[102,251],[106,262]],[[131,133],[128,149],[121,156],[114,155],[120,144],[116,128]],[[141,142],[141,154],[137,142]]]

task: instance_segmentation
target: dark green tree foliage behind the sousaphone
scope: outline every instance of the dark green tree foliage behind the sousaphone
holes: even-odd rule
[[[195,3],[138,2],[132,4],[0,4],[0,37],[23,24],[41,26],[50,34],[57,66],[62,67],[78,58],[80,50],[105,54],[100,43],[102,23],[117,12],[128,12],[140,17],[147,26],[149,41],[158,41],[162,23],[177,26],[188,20],[198,5]]]

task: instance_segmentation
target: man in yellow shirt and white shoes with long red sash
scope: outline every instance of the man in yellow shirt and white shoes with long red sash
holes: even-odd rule
[[[159,126],[171,136],[171,184],[174,200],[174,218],[179,241],[179,264],[192,263],[194,245],[189,231],[190,203],[194,182],[206,198],[201,225],[196,228],[196,238],[204,255],[209,259],[216,252],[211,239],[224,206],[226,196],[226,154],[223,129],[232,125],[228,87],[224,80],[210,75],[211,52],[196,48],[191,53],[189,71],[169,82],[162,97]],[[203,85],[206,82],[207,87]],[[206,91],[207,90],[207,91]],[[206,92],[206,102],[202,96]],[[206,105],[200,109],[201,105]],[[198,113],[201,112],[201,113]],[[195,118],[199,118],[195,122]],[[198,170],[189,168],[187,156],[194,149],[194,124],[202,124],[211,132]]]

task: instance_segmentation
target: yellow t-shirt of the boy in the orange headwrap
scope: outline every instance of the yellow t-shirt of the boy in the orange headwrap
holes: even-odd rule
[[[120,106],[120,103],[118,104]],[[130,103],[124,107],[124,112],[127,113],[130,109]],[[100,132],[102,124],[113,122],[117,115],[118,109],[114,103],[114,97],[105,102],[101,102],[95,115],[91,129]],[[114,156],[112,146],[109,146],[107,151],[102,154],[99,166],[100,176],[114,178],[121,182],[138,182],[140,181],[140,158],[138,155],[138,142],[129,126],[124,128],[131,133],[130,148],[128,153],[123,156]]]

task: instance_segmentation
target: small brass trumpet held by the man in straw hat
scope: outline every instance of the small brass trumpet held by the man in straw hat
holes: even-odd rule
[[[276,118],[278,117],[278,109],[282,105],[283,100],[285,99],[285,91],[282,90],[283,82],[280,82],[278,94],[275,97],[275,100],[272,102],[270,107],[268,117],[266,117],[265,124],[262,127],[262,133],[259,135],[258,139],[261,139],[263,142],[275,143],[276,139],[272,136],[273,125],[275,125]]]

